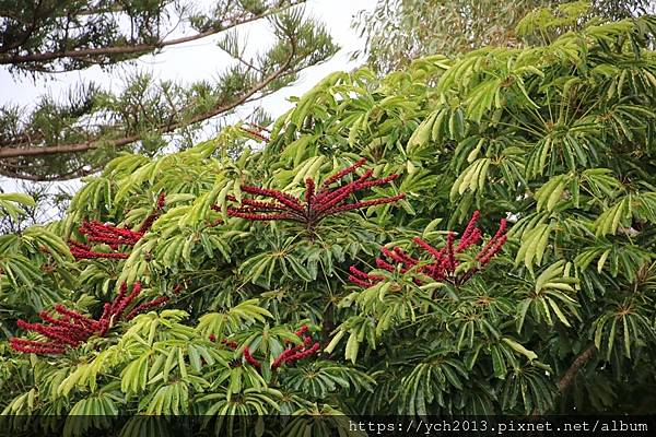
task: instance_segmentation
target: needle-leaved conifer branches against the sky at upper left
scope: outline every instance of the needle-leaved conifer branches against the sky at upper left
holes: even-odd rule
[[[119,91],[89,82],[63,102],[44,95],[28,110],[4,103],[0,175],[71,179],[102,169],[122,150],[153,155],[172,142],[192,145],[203,121],[290,84],[335,54],[323,26],[303,17],[303,2],[223,0],[203,11],[181,0],[1,1],[0,64],[14,75],[110,70],[216,34],[234,61],[215,81],[184,84],[137,72]],[[272,27],[272,44],[247,57],[237,29],[258,20]]]

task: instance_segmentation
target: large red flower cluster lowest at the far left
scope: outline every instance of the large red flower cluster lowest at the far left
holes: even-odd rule
[[[63,305],[55,306],[55,311],[59,314],[57,318],[48,311],[40,311],[38,316],[45,323],[28,323],[25,320],[19,320],[16,324],[20,328],[37,332],[50,341],[42,342],[12,338],[9,342],[14,350],[23,353],[62,354],[66,352],[67,346],[78,347],[92,335],[105,336],[109,328],[121,318],[125,309],[139,296],[141,283],[136,282],[132,292],[130,294],[127,294],[127,292],[128,286],[125,283],[121,284],[116,298],[112,303],[105,304],[103,315],[98,320],[68,309]],[[161,296],[154,300],[137,305],[124,319],[131,320],[139,312],[157,307],[167,300],[168,297]]]

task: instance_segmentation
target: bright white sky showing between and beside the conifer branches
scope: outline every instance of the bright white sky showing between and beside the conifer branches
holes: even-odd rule
[[[199,2],[206,2],[200,0]],[[350,61],[353,51],[361,49],[364,42],[356,31],[351,28],[353,16],[361,10],[373,10],[376,0],[307,0],[306,15],[325,24],[336,44],[341,50],[323,64],[303,71],[298,80],[292,85],[268,96],[260,103],[262,108],[271,116],[277,117],[291,107],[288,102],[290,96],[300,96],[327,74],[338,70],[350,70],[358,67],[359,62]],[[266,21],[258,21],[241,27],[242,35],[247,37],[249,50],[267,47],[271,43],[270,32],[266,28]],[[152,73],[155,78],[174,80],[176,82],[192,82],[196,80],[211,80],[222,71],[222,67],[230,61],[215,43],[221,34],[210,36],[188,44],[167,47],[157,56],[147,55],[137,60],[136,67],[130,70],[140,70]],[[124,71],[125,73],[125,71]],[[37,79],[34,82],[25,76],[12,76],[5,68],[0,69],[0,90],[2,94],[0,104],[19,104],[28,107],[32,102],[43,94],[54,96],[65,95],[66,91],[75,83],[94,81],[109,88],[122,86],[120,70],[103,72],[93,67],[81,72],[58,73],[47,79]],[[253,110],[254,105],[239,110],[244,117]],[[79,182],[70,181],[59,184],[68,190],[74,190]],[[0,177],[0,187],[5,192],[16,191],[19,188],[14,180]]]

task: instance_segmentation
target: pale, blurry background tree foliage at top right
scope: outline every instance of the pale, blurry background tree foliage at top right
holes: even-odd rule
[[[367,44],[368,66],[389,73],[422,56],[456,56],[485,46],[524,44],[515,26],[538,7],[569,0],[380,0],[354,21]],[[595,0],[591,13],[619,20],[647,12],[646,0]],[[535,44],[536,42],[531,42]]]

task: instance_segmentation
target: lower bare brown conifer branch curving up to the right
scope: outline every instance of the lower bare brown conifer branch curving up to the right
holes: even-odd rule
[[[270,75],[268,75],[260,82],[256,83],[247,93],[242,95],[236,101],[234,101],[230,104],[226,104],[226,105],[218,106],[211,111],[208,111],[204,114],[199,114],[196,117],[192,117],[191,119],[186,120],[186,121],[178,120],[174,123],[167,123],[165,126],[160,126],[160,128],[157,130],[161,133],[169,133],[180,127],[190,126],[190,125],[195,125],[200,121],[204,121],[209,118],[212,118],[220,114],[226,113],[226,111],[234,109],[235,107],[248,102],[248,99],[251,96],[254,96],[256,93],[258,93],[259,91],[261,91],[262,88],[268,86],[271,82],[273,82],[276,79],[278,79],[279,76],[281,76],[285,73],[285,71],[288,70],[288,68],[290,67],[290,64],[292,62],[292,59],[294,58],[294,55],[295,55],[294,50],[292,50],[292,52],[290,54],[290,56],[288,57],[285,62],[278,70],[276,70],[273,73],[271,73]],[[136,141],[139,141],[141,138],[142,138],[142,134],[134,133],[132,135],[124,137],[124,138],[116,139],[116,140],[103,141],[103,140],[98,140],[98,139],[93,139],[93,140],[90,140],[90,141],[86,141],[83,143],[75,143],[75,144],[32,146],[32,147],[5,147],[5,149],[0,149],[0,158],[19,157],[19,156],[43,156],[43,155],[54,155],[54,154],[60,154],[60,153],[85,152],[89,150],[97,149],[104,144],[107,144],[113,147],[121,147],[127,144],[131,144]]]

